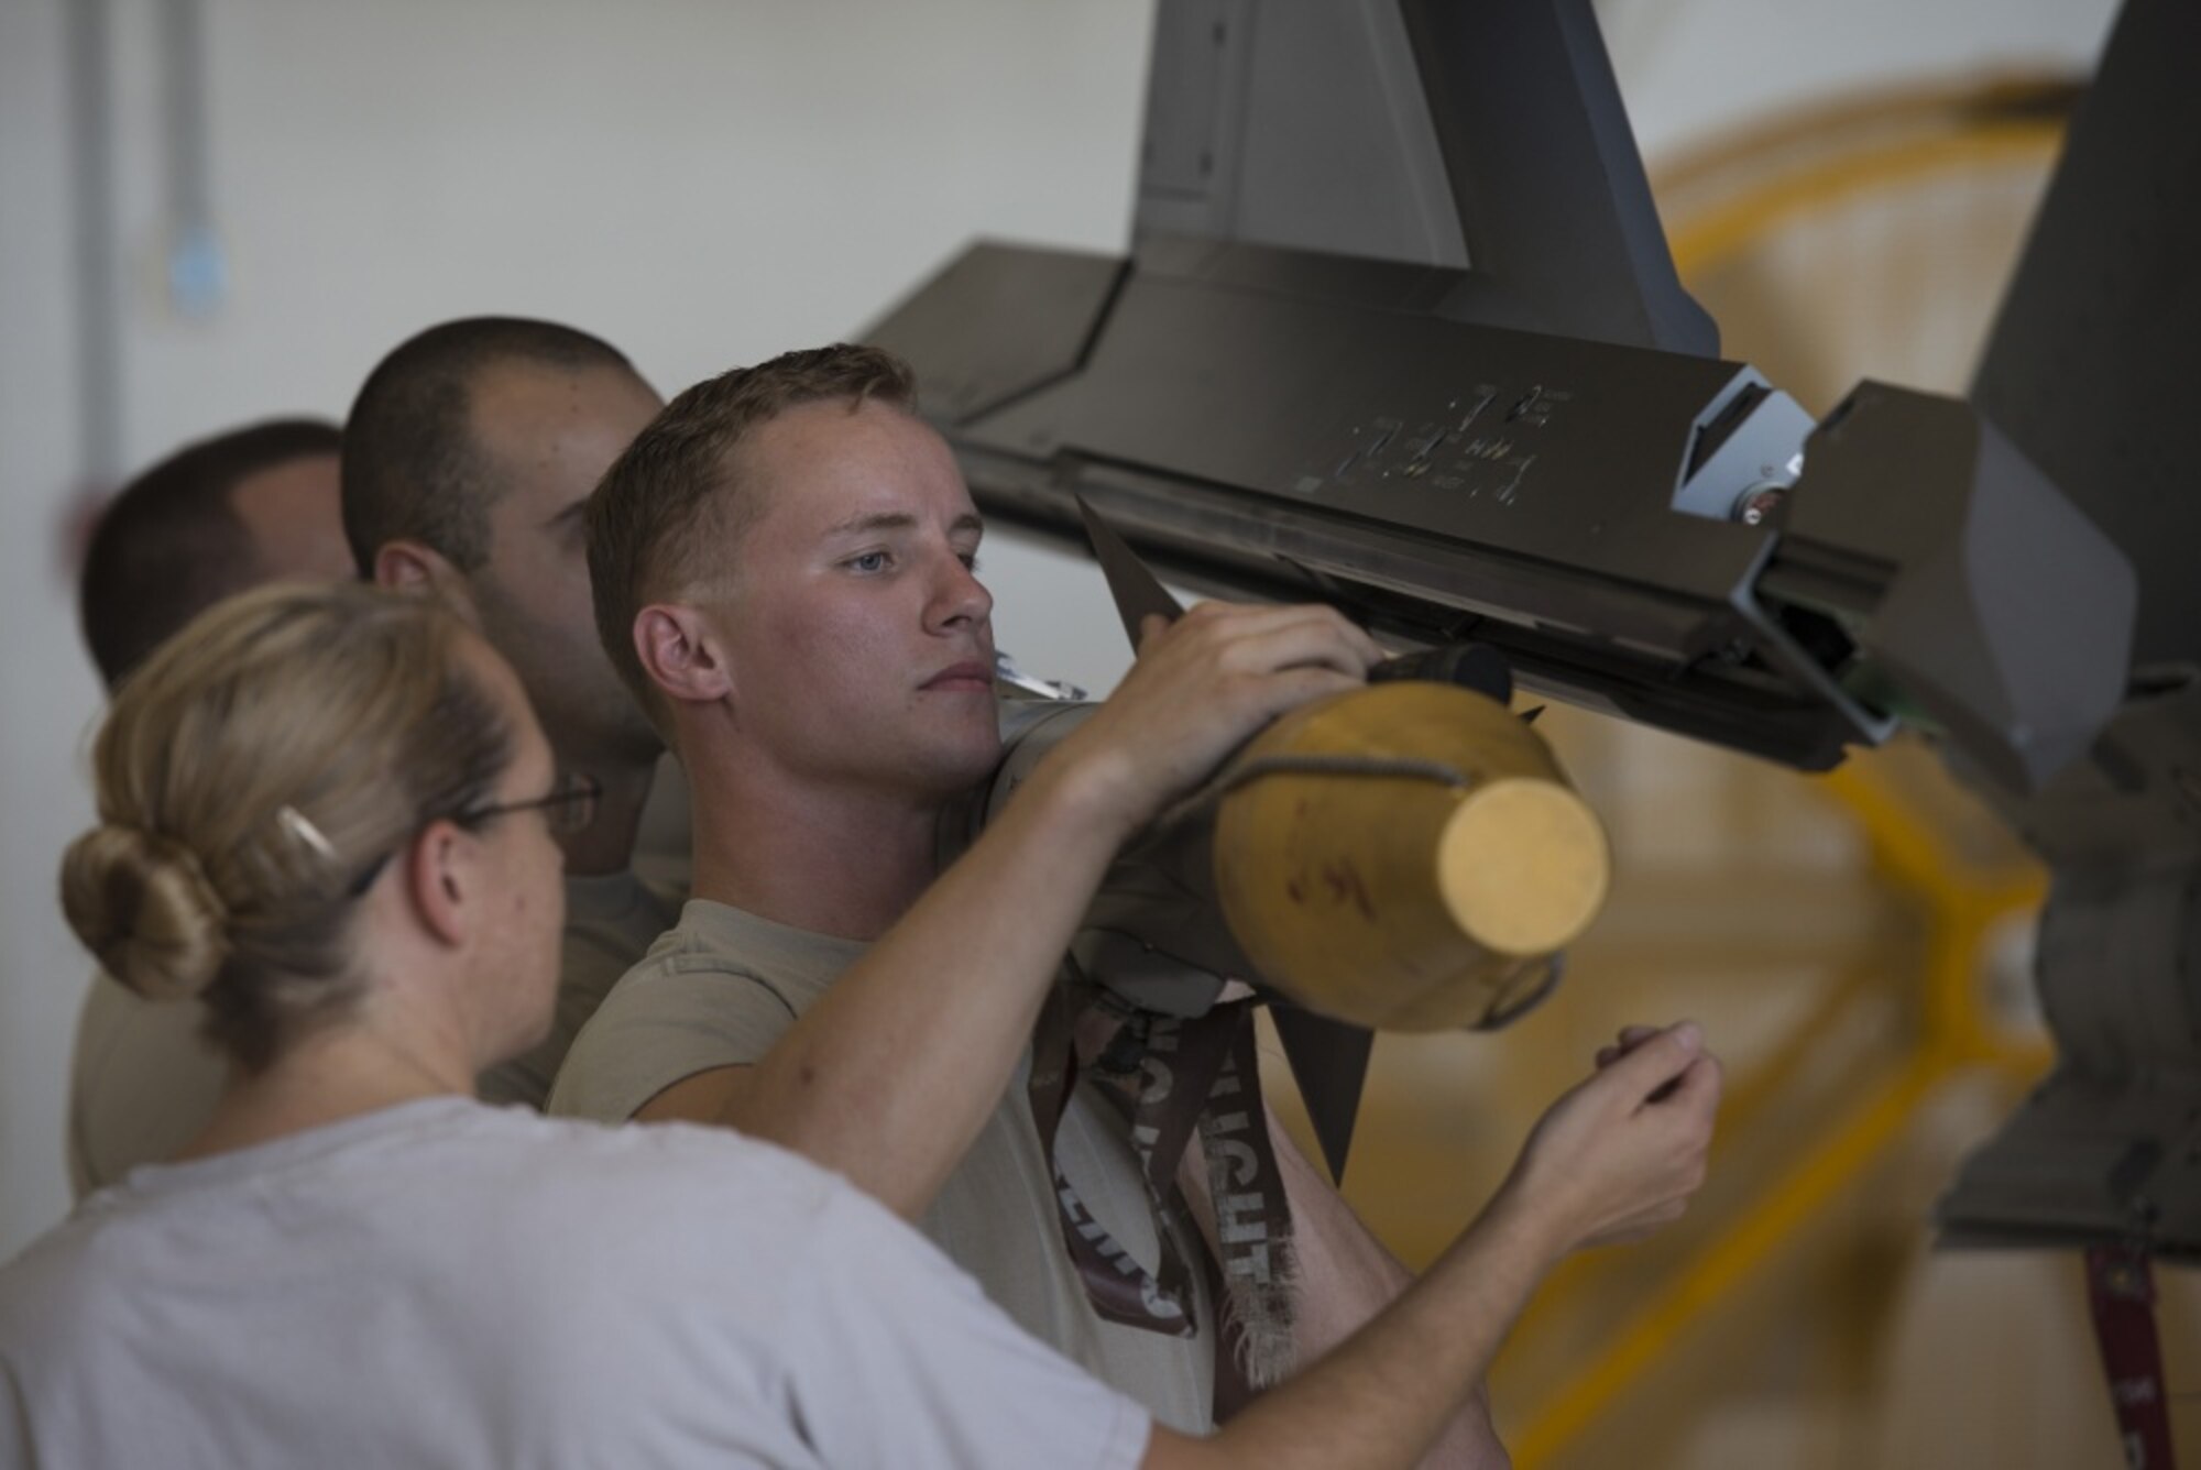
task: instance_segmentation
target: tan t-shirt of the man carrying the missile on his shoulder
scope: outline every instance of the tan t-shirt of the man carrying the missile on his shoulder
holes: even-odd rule
[[[687,1076],[759,1061],[863,948],[689,900],[680,926],[651,946],[581,1030],[550,1111],[616,1122]],[[911,977],[911,984],[924,981]],[[1142,1402],[1162,1424],[1206,1433],[1215,1384],[1215,1307],[1206,1283],[1195,1281],[1193,1338],[1125,1327],[1094,1312],[1063,1246],[1023,1080],[1019,1063],[971,1153],[920,1221],[924,1232],[1041,1342]],[[1056,1153],[1094,1219],[1153,1270],[1160,1257],[1153,1210],[1127,1129],[1087,1087],[1072,1096]],[[1182,1213],[1173,1213],[1169,1228],[1189,1261],[1202,1259],[1206,1248]]]

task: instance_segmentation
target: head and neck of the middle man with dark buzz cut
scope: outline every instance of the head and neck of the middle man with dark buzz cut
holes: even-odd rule
[[[590,621],[583,502],[660,401],[610,343],[471,317],[385,356],[343,431],[343,530],[361,572],[429,583],[519,671],[568,764],[658,739]]]

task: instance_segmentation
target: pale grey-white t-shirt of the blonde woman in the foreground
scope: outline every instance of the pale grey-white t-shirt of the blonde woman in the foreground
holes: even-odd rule
[[[0,1270],[22,1466],[1136,1466],[1138,1404],[803,1160],[427,1098],[145,1166]]]

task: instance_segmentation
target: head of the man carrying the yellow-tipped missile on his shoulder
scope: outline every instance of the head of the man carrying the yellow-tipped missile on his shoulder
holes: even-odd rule
[[[680,394],[603,478],[596,625],[667,735],[724,704],[775,775],[940,794],[997,759],[979,535],[898,359],[790,352]]]

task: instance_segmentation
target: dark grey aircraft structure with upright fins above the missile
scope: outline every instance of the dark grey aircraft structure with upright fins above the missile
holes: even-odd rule
[[[1926,731],[2054,874],[2058,1063],[1943,1239],[2192,1257],[2197,68],[2131,0],[1968,398],[1719,359],[1587,0],[1164,0],[1129,255],[982,242],[869,339],[997,524],[1805,770]],[[1365,1045],[1303,1052],[1340,1164]]]

